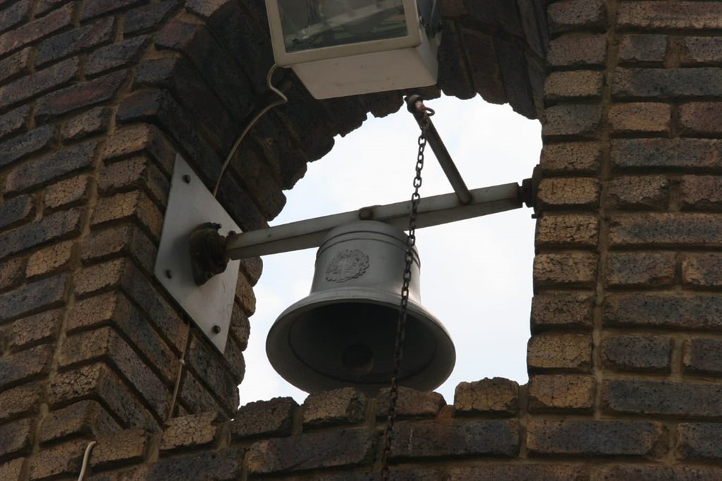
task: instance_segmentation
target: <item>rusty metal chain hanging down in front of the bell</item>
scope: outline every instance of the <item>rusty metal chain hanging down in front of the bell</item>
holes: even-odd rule
[[[427,108],[422,101],[418,101],[415,107],[424,114],[425,120],[434,114],[434,111]],[[393,348],[393,376],[391,377],[391,388],[389,389],[388,417],[386,429],[383,431],[383,453],[381,454],[381,479],[388,481],[391,474],[388,468],[388,455],[391,453],[391,441],[393,441],[393,423],[396,420],[396,402],[399,400],[399,377],[401,377],[401,360],[404,358],[404,338],[406,337],[406,312],[409,306],[409,285],[411,284],[411,267],[414,261],[414,246],[416,245],[416,217],[419,209],[419,188],[422,184],[421,170],[424,168],[424,149],[426,148],[425,121],[421,134],[419,134],[419,151],[416,157],[416,176],[414,177],[414,193],[411,196],[411,215],[409,215],[409,235],[406,240],[406,256],[404,265],[404,283],[401,287],[401,304],[399,306],[399,319],[396,323],[396,344]]]

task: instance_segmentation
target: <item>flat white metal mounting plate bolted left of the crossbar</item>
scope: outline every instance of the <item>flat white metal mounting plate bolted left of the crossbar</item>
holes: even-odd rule
[[[183,157],[176,155],[168,208],[165,210],[158,256],[155,259],[155,277],[223,353],[240,261],[230,261],[225,272],[215,275],[204,285],[196,285],[191,271],[188,236],[204,222],[219,223],[222,235],[227,235],[231,230],[240,233],[238,225],[190,165]]]

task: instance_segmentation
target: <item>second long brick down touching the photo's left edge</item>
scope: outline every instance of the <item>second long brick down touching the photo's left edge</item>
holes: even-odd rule
[[[0,87],[0,105],[12,105],[34,97],[48,90],[62,87],[72,79],[79,66],[78,58],[68,58],[47,69],[36,71],[27,77],[15,80]]]

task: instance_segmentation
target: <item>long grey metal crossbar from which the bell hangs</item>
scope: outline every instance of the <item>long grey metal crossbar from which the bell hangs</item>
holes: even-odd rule
[[[470,191],[469,196],[471,202],[467,204],[461,204],[456,194],[422,198],[419,202],[417,228],[522,207],[521,188],[517,183],[477,188]],[[225,252],[230,259],[236,260],[318,247],[331,229],[357,220],[378,220],[405,229],[408,227],[410,210],[411,202],[396,202],[232,234],[228,236]]]

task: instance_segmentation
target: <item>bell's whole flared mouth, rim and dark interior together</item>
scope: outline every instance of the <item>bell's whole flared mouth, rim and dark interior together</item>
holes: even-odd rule
[[[378,394],[394,368],[398,295],[343,289],[312,294],[279,316],[266,339],[274,369],[308,392],[353,386]],[[430,391],[448,378],[456,352],[440,322],[409,300],[399,384]]]

